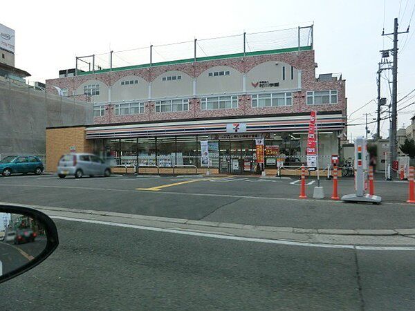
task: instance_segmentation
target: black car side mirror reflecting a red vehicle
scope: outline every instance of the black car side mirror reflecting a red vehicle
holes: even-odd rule
[[[0,205],[0,283],[42,263],[59,244],[46,214],[19,205]]]

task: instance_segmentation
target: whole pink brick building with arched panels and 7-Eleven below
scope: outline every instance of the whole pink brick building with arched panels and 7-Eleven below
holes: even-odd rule
[[[338,154],[347,99],[341,75],[315,75],[308,45],[80,71],[46,80],[48,91],[94,103],[94,124],[46,131],[48,170],[62,153],[93,152],[140,171],[208,166],[214,173],[255,171],[255,138],[265,139],[266,169],[277,158],[306,162],[310,112],[317,111],[320,166]],[[201,161],[208,141],[209,163]],[[49,166],[50,163],[50,166]]]

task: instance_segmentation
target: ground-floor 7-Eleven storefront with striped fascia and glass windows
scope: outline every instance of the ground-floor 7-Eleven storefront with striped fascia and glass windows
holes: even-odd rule
[[[273,117],[238,117],[223,120],[194,120],[145,124],[88,126],[86,140],[95,154],[112,165],[131,165],[140,172],[158,168],[212,173],[259,173],[255,139],[264,138],[265,169],[274,173],[277,160],[286,166],[306,162],[308,113]],[[319,130],[320,167],[338,154],[344,130],[341,113],[321,114]],[[208,161],[201,157],[207,144]]]

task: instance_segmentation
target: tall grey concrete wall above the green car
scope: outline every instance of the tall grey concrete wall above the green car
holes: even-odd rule
[[[92,104],[0,81],[0,153],[46,151],[46,127],[92,123]]]

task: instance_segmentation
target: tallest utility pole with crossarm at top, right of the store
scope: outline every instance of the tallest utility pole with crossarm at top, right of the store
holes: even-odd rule
[[[406,31],[398,32],[398,18],[394,19],[394,32],[385,33],[382,32],[382,36],[394,35],[394,48],[392,48],[392,56],[394,62],[392,64],[392,115],[391,115],[391,129],[389,131],[389,154],[390,161],[396,161],[397,147],[396,147],[396,131],[398,122],[397,103],[398,103],[398,35],[409,32],[409,27]]]

